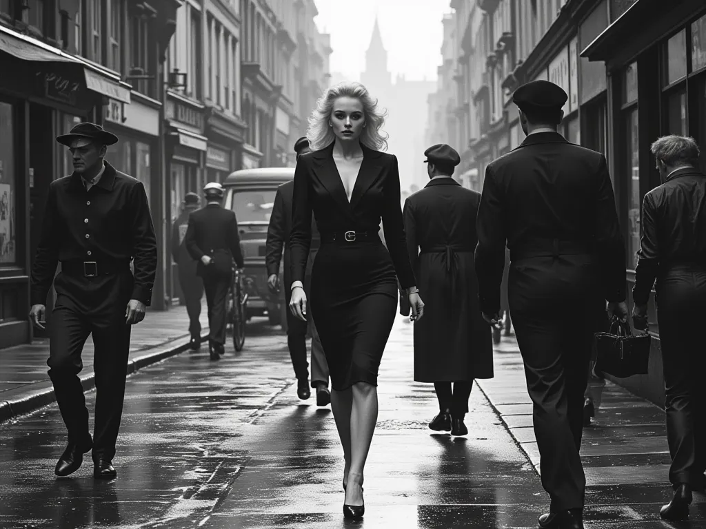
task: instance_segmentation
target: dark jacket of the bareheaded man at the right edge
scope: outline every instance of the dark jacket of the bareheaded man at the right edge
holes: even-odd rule
[[[706,265],[706,176],[691,167],[669,174],[642,199],[635,303],[647,303],[654,279],[677,263]]]

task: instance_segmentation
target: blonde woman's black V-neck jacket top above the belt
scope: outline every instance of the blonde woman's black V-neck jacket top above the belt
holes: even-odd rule
[[[350,203],[333,161],[333,143],[299,157],[292,202],[292,282],[304,282],[311,245],[311,213],[322,236],[345,231],[377,232],[383,221],[385,243],[402,288],[414,286],[400,205],[397,158],[363,147],[363,162]],[[289,286],[288,286],[289,288]]]

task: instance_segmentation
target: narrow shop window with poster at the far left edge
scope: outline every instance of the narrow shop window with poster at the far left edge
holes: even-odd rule
[[[12,105],[0,102],[0,265],[16,262],[15,137]]]

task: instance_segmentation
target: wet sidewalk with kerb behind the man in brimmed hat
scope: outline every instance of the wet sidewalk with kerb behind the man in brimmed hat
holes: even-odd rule
[[[202,338],[208,336],[208,312],[205,301],[201,308]],[[133,325],[128,358],[128,375],[138,369],[181,353],[189,346],[189,316],[186,307],[178,305],[167,311],[148,310],[145,320]],[[94,387],[93,339],[83,348],[84,391]],[[30,413],[53,403],[54,389],[47,375],[49,340],[37,339],[32,344],[0,349],[0,422]]]

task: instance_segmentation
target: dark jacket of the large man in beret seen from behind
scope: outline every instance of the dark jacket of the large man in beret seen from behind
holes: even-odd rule
[[[555,238],[585,244],[599,255],[606,300],[625,300],[625,243],[606,159],[559,133],[531,134],[487,166],[476,231],[476,272],[486,314],[500,309],[505,241],[511,260],[545,250],[546,241]]]

